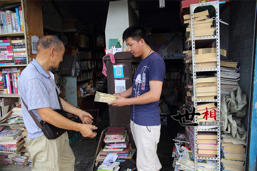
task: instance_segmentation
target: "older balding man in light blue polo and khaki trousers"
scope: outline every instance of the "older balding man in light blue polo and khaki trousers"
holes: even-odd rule
[[[56,36],[44,36],[37,42],[37,56],[22,71],[19,79],[21,97],[36,119],[46,121],[56,127],[79,131],[83,137],[95,137],[91,129],[97,129],[92,124],[93,117],[61,99],[63,110],[77,115],[83,124],[76,123],[53,111],[60,109],[50,68],[58,68],[63,60],[65,47]],[[73,171],[75,157],[69,146],[68,134],[65,132],[57,139],[49,140],[43,131],[37,127],[28,110],[21,103],[23,120],[28,130],[27,146],[32,160],[32,170]]]

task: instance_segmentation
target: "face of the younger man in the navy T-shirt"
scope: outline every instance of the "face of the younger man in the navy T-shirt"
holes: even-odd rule
[[[140,57],[142,55],[143,49],[142,44],[139,41],[133,40],[131,37],[127,38],[126,45],[128,46],[128,51],[134,56],[134,57]]]

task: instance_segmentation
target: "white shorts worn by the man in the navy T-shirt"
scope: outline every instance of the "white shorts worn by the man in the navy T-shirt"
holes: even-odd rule
[[[141,126],[130,120],[130,129],[136,144],[136,168],[138,171],[156,171],[162,168],[157,156],[160,125]]]

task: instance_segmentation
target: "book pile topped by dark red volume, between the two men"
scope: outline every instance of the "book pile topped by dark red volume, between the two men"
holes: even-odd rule
[[[105,147],[100,150],[96,161],[102,162],[108,154],[118,155],[117,162],[124,162],[132,157],[135,149],[131,147],[125,127],[109,127],[104,138]]]

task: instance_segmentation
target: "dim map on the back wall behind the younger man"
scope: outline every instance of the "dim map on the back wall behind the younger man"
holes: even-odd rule
[[[181,40],[178,32],[154,33],[148,36],[150,47],[162,58],[181,57]]]

